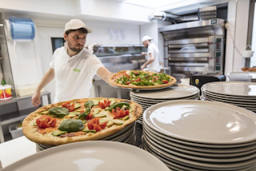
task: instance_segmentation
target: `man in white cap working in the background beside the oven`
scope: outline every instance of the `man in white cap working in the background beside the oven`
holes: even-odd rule
[[[147,53],[142,52],[143,55],[147,55],[147,62],[145,62],[141,66],[141,70],[148,68],[151,72],[160,72],[160,65],[159,65],[159,50],[158,47],[154,45],[154,43],[151,42],[153,38],[150,38],[149,36],[144,36],[142,38],[143,46],[147,48]]]

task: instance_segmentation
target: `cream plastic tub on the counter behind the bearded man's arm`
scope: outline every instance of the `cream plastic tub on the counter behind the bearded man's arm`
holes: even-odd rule
[[[15,84],[16,94],[18,97],[24,97],[34,94],[38,86],[38,83],[30,84]],[[44,90],[42,89],[41,92]]]

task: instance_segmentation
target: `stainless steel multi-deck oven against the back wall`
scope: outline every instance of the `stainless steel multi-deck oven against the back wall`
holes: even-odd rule
[[[177,78],[191,74],[223,74],[224,20],[185,22],[159,29],[165,38],[165,66]]]

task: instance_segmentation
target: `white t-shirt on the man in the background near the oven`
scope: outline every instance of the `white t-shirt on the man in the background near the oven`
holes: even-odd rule
[[[160,72],[160,65],[159,65],[159,50],[158,47],[154,45],[154,43],[150,43],[150,46],[147,47],[147,60],[150,59],[150,54],[154,54],[154,62],[150,63],[150,65],[147,65],[149,71],[151,72]]]

